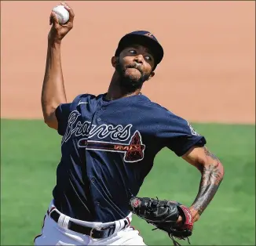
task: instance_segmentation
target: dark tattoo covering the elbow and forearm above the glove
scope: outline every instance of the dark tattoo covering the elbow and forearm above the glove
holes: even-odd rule
[[[197,194],[192,207],[199,212],[199,215],[203,213],[205,208],[207,208],[207,205],[213,199],[224,175],[224,169],[218,160],[218,157],[211,154],[207,148],[204,147],[203,149],[207,156],[210,156],[213,159],[213,163],[209,165],[197,165],[197,168],[199,168],[202,173],[202,178],[199,185],[199,193]]]

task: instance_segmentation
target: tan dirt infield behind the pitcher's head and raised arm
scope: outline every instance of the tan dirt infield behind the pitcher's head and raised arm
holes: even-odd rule
[[[151,31],[165,56],[143,93],[189,121],[255,123],[255,2],[68,2],[65,88],[106,92],[119,38]],[[1,116],[42,118],[49,13],[58,2],[1,2]]]

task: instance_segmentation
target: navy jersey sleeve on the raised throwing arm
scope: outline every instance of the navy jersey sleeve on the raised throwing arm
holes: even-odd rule
[[[57,131],[61,136],[64,136],[64,133],[66,132],[70,112],[71,103],[62,103],[57,107],[55,111],[55,115],[58,121]]]

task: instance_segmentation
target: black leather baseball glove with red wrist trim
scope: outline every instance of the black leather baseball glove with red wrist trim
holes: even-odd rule
[[[129,206],[133,214],[155,226],[156,228],[153,230],[159,229],[168,233],[175,246],[181,244],[175,241],[174,237],[185,240],[192,235],[192,214],[187,207],[177,201],[132,197]],[[177,219],[179,215],[182,217],[182,222],[178,225]],[[190,244],[189,240],[188,243]]]

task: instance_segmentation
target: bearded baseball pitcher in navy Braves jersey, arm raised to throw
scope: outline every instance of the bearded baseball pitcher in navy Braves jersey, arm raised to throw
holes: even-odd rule
[[[221,184],[224,168],[188,121],[141,94],[163,59],[162,46],[148,31],[133,31],[120,39],[108,92],[84,93],[67,102],[60,47],[75,15],[61,4],[70,19],[60,25],[50,14],[42,85],[44,121],[62,136],[61,159],[53,200],[35,245],[145,245],[130,226],[132,215],[178,244],[177,239],[191,237],[194,222]],[[163,197],[137,197],[164,147],[201,173],[198,194],[188,207]]]

